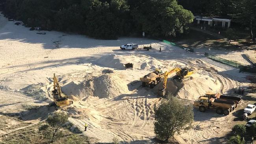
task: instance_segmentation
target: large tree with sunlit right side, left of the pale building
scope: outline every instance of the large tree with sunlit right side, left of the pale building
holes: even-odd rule
[[[184,33],[194,19],[191,11],[178,5],[176,0],[139,0],[132,15],[139,30],[156,37],[176,37]]]

